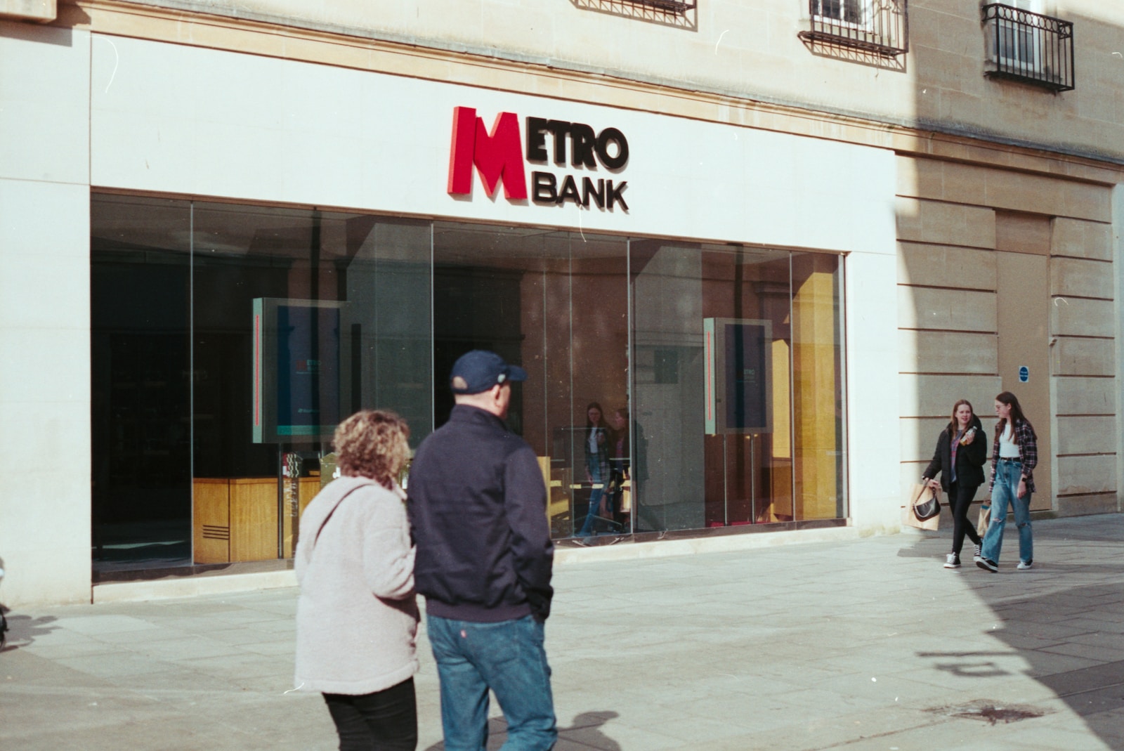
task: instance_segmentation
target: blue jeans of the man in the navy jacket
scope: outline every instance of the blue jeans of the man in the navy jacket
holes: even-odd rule
[[[426,626],[441,679],[445,751],[484,751],[489,688],[507,720],[502,751],[554,745],[559,733],[542,623],[529,615],[472,623],[427,614]]]

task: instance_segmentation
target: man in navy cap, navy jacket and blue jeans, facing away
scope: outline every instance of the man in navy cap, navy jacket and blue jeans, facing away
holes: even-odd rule
[[[473,350],[453,365],[448,422],[410,467],[414,580],[441,679],[446,751],[483,751],[488,689],[507,720],[506,751],[558,739],[543,624],[554,545],[538,460],[504,419],[527,371]]]

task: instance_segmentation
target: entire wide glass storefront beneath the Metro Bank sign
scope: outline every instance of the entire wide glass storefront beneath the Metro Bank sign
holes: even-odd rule
[[[840,256],[109,194],[91,226],[100,571],[291,557],[335,425],[416,446],[471,349],[528,372],[558,539],[846,516]]]

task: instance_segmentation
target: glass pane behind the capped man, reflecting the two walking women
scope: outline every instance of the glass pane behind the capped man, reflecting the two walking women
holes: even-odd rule
[[[498,352],[527,370],[508,423],[538,455],[554,536],[629,531],[606,494],[616,450],[609,420],[627,406],[627,242],[437,223],[434,301],[437,424],[453,406],[442,374],[469,350]],[[593,428],[591,404],[601,414]]]

